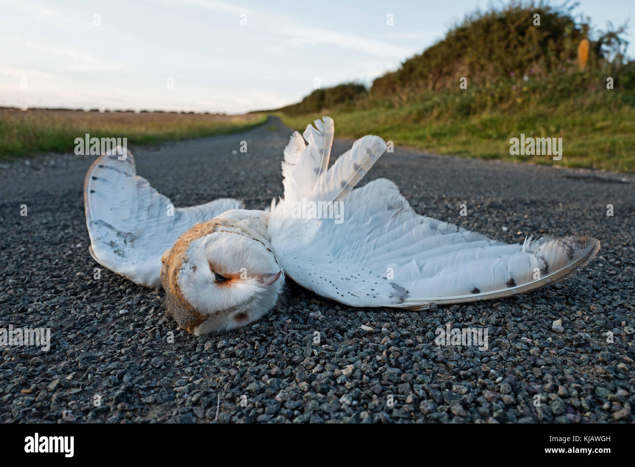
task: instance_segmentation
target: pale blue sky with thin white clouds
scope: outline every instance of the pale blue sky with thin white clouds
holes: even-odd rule
[[[0,105],[273,109],[317,85],[370,85],[489,4],[0,0]],[[603,29],[632,18],[634,5],[582,0],[574,13]]]

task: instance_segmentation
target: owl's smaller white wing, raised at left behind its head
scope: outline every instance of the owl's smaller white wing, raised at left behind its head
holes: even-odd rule
[[[242,201],[221,198],[174,208],[137,175],[132,153],[121,148],[98,158],[84,179],[90,254],[102,266],[147,287],[161,287],[161,256],[180,234],[243,207]]]

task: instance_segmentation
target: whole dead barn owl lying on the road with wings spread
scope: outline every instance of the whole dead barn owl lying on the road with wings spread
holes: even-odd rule
[[[509,245],[418,215],[389,180],[356,188],[385,142],[364,136],[329,166],[334,132],[324,117],[291,135],[284,196],[267,211],[229,198],[173,208],[137,175],[130,151],[104,154],[84,182],[90,254],[163,287],[166,314],[204,335],[264,316],[286,278],[349,306],[422,309],[528,292],[599,250],[588,236]]]

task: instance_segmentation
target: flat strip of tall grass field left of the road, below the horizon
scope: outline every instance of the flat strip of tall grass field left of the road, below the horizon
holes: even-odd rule
[[[0,158],[42,152],[69,152],[75,139],[128,138],[130,144],[156,144],[224,133],[262,125],[259,114],[227,116],[170,112],[84,112],[75,110],[0,108]]]

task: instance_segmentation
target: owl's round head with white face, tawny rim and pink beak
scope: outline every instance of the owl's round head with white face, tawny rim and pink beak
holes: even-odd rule
[[[166,314],[195,335],[258,320],[276,304],[284,283],[269,243],[233,219],[192,227],[161,262]]]

